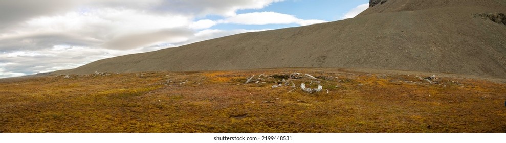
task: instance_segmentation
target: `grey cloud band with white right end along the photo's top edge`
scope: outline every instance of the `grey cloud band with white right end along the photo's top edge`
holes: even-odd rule
[[[95,8],[147,10],[157,14],[185,16],[234,16],[237,10],[261,9],[284,0],[16,0],[0,1],[0,29],[39,16],[58,15],[76,9]]]

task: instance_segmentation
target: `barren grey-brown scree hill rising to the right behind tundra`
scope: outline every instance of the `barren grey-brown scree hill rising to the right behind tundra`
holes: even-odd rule
[[[351,19],[108,58],[95,71],[371,68],[506,77],[506,1],[371,1]]]

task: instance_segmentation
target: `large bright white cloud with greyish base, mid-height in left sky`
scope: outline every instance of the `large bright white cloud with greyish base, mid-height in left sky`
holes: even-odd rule
[[[136,49],[158,41],[181,42],[184,32],[191,35],[187,28],[181,28],[191,23],[191,20],[179,15],[160,16],[138,10],[111,8],[84,13],[69,12],[61,16],[45,16],[27,21],[25,25],[17,27],[15,33],[0,36],[0,42],[15,44],[3,44],[0,49],[34,50],[62,44]]]

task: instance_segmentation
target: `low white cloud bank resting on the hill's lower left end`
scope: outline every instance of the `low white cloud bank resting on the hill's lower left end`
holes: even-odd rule
[[[56,45],[46,50],[0,53],[0,78],[70,69],[99,59],[143,52],[142,49],[109,50]]]

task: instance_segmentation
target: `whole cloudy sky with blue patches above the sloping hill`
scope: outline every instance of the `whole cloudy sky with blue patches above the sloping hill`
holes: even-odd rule
[[[369,1],[1,0],[0,78],[203,40],[353,18]]]

